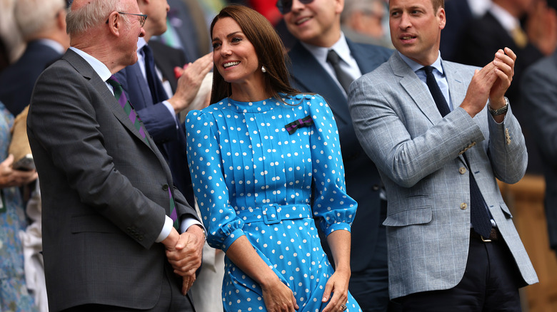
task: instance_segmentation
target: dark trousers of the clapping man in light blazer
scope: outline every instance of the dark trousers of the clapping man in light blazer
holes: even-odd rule
[[[466,271],[460,283],[443,291],[412,293],[398,300],[403,311],[521,311],[518,267],[504,241],[471,238]]]

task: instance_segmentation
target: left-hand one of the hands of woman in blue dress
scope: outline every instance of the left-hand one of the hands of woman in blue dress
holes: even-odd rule
[[[263,291],[263,301],[269,312],[294,312],[298,310],[298,303],[294,293],[284,285],[278,276],[270,283],[260,284]]]

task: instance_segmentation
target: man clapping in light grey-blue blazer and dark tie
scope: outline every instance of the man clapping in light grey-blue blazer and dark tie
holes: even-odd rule
[[[528,160],[504,97],[516,56],[479,71],[443,61],[443,0],[389,12],[397,52],[348,103],[387,191],[390,296],[403,311],[520,311],[518,288],[538,279],[496,181],[518,182]]]

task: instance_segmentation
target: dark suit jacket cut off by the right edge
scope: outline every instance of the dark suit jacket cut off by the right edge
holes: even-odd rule
[[[549,244],[557,251],[557,52],[534,63],[521,81],[522,101],[531,120],[546,177],[546,219]]]

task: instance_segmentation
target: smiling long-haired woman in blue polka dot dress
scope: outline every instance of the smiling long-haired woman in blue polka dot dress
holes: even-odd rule
[[[214,104],[191,111],[186,130],[208,242],[226,251],[224,310],[361,311],[348,292],[357,204],[331,110],[291,88],[281,40],[256,11],[227,6],[211,38]]]

